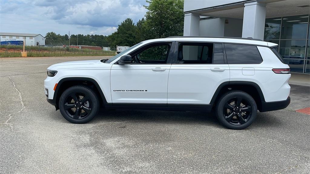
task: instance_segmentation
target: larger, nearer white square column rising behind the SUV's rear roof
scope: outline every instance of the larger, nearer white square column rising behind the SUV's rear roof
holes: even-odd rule
[[[244,4],[242,37],[264,39],[266,4],[250,2]]]

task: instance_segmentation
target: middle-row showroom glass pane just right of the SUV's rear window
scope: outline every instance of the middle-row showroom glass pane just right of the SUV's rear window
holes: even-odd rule
[[[281,41],[280,54],[284,59],[304,59],[306,40]]]

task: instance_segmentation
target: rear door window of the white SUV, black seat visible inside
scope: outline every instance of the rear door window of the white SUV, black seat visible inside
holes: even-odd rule
[[[181,43],[178,49],[178,64],[223,64],[222,44]]]

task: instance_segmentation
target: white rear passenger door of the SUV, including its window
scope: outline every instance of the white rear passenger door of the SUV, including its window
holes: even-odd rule
[[[229,81],[224,44],[176,42],[175,45],[177,54],[169,72],[168,106],[209,104],[218,86]]]

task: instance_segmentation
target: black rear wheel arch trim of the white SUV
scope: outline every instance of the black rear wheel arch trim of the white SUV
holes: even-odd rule
[[[219,85],[219,87],[216,89],[215,93],[213,94],[210,104],[212,105],[215,104],[222,94],[224,94],[225,92],[231,89],[241,90],[251,95],[257,104],[258,110],[259,111],[262,110],[262,103],[265,102],[263,92],[257,83],[251,82],[251,81],[223,82],[222,84]]]

